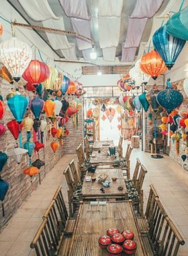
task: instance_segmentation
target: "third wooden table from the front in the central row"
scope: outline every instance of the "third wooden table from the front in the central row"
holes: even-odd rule
[[[90,164],[117,164],[119,161],[115,161],[115,158],[113,156],[107,156],[107,153],[109,153],[109,150],[101,150],[101,152],[94,151],[91,154],[90,158]]]

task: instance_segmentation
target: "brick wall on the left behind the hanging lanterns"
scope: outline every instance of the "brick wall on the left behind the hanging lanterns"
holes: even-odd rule
[[[1,123],[6,125],[7,122],[13,119],[13,115],[7,106],[6,96],[9,92],[11,92],[11,88],[14,88],[4,79],[0,78],[0,94],[3,96],[6,112],[5,117],[1,119]],[[32,93],[28,93],[23,89],[23,81],[19,82],[19,92],[27,94],[28,96],[32,96]],[[29,110],[29,116],[32,117],[32,113]],[[40,168],[41,181],[45,178],[45,170],[46,174],[52,170],[56,162],[62,157],[63,154],[71,154],[75,153],[75,148],[79,143],[82,142],[82,132],[83,132],[83,119],[82,119],[82,111],[79,113],[79,126],[76,130],[73,125],[73,119],[69,119],[67,124],[67,129],[70,131],[68,137],[64,139],[63,146],[59,146],[56,154],[54,156],[52,149],[50,147],[50,143],[53,141],[52,136],[49,136],[48,131],[50,130],[50,121],[48,120],[48,125],[46,129],[46,146],[43,150],[40,150],[40,160],[44,160],[45,157],[45,166]],[[26,131],[24,128],[22,129],[22,138],[23,143],[26,142]],[[4,135],[0,139],[0,151],[5,152],[5,150],[9,150],[15,146],[15,139],[13,135],[11,135],[9,129],[7,129]],[[36,160],[37,155],[33,154],[32,160]],[[1,201],[0,201],[0,231],[5,226],[7,221],[13,216],[15,210],[17,210],[21,203],[27,199],[27,197],[31,193],[31,179],[28,175],[23,174],[23,170],[28,167],[29,158],[28,156],[22,158],[21,163],[17,164],[13,158],[9,158],[7,164],[5,164],[2,172],[0,173],[1,178],[9,183],[9,190],[7,195],[3,201],[5,207],[5,217],[2,217],[1,210]],[[34,189],[39,186],[38,175],[32,178]]]

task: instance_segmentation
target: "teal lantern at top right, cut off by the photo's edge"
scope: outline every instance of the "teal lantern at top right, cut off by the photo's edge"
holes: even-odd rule
[[[167,32],[176,38],[188,40],[188,6],[175,13],[167,22]]]

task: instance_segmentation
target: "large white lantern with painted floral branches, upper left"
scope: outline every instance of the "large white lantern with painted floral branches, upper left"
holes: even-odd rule
[[[32,59],[32,49],[25,42],[13,37],[1,42],[0,57],[15,82],[18,82]]]

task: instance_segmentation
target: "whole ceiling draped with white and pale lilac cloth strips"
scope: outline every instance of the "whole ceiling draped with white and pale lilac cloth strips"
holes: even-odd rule
[[[182,0],[7,0],[28,23],[73,31],[92,41],[38,30],[52,49],[68,61],[91,61],[92,46],[99,61],[135,61],[152,50],[152,34],[179,11]],[[188,5],[185,1],[183,7]],[[19,22],[19,20],[17,20]],[[93,45],[92,45],[93,44]]]

